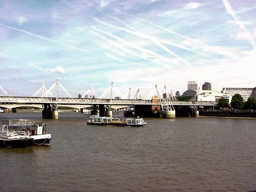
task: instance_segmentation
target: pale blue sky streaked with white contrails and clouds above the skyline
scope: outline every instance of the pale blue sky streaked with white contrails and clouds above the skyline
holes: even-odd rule
[[[254,0],[0,0],[1,92],[254,88],[255,18]]]

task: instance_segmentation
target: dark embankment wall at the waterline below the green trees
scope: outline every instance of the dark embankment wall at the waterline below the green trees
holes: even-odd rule
[[[206,110],[199,111],[199,116],[256,118],[256,110]]]

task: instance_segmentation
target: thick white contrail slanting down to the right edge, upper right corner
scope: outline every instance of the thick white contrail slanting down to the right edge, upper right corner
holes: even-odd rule
[[[253,50],[255,49],[255,42],[253,40],[252,34],[244,27],[243,22],[241,22],[236,13],[233,11],[231,5],[229,4],[228,0],[222,0],[228,14],[230,14],[234,20],[234,22],[241,28],[244,30],[244,32],[246,33],[246,38],[249,41],[249,43],[251,44]]]

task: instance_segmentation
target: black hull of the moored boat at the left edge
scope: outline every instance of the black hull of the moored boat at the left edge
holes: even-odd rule
[[[50,145],[51,138],[46,139],[10,139],[10,140],[0,140],[0,147],[6,148],[25,148],[33,145]]]

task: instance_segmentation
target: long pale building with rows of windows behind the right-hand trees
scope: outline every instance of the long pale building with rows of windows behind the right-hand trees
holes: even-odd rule
[[[256,99],[256,87],[255,88],[222,88],[221,93],[230,95],[231,97],[235,94],[240,94],[244,101],[248,98]]]

